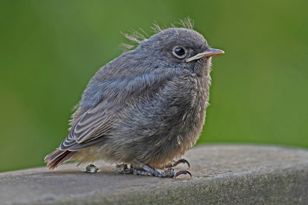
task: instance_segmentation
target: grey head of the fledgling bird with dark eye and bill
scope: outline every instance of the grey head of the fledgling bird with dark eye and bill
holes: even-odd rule
[[[224,51],[213,49],[205,38],[195,30],[168,28],[140,42],[137,48],[146,58],[159,60],[171,66],[196,68],[210,66],[212,56]]]

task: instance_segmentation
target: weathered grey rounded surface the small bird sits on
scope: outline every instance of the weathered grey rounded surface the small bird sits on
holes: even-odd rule
[[[97,173],[76,163],[0,173],[0,204],[308,204],[308,150],[206,145],[183,158],[192,179],[118,175],[101,161]]]

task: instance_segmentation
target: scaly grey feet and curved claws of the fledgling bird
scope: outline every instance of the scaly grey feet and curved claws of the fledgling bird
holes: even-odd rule
[[[190,178],[192,177],[191,173],[187,170],[181,170],[177,173],[175,173],[174,169],[172,167],[169,167],[166,171],[161,172],[158,171],[156,169],[154,169],[153,167],[150,167],[147,164],[143,164],[143,163],[136,163],[139,167],[141,167],[143,170],[137,170],[135,168],[128,168],[127,170],[125,170],[126,173],[130,173],[131,171],[133,171],[134,175],[146,175],[146,176],[156,176],[156,177],[168,177],[168,178],[176,178],[178,175],[181,174],[188,174],[190,175]]]

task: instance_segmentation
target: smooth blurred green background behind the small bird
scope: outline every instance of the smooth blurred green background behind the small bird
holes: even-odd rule
[[[43,166],[120,33],[190,17],[225,54],[198,143],[308,147],[308,1],[1,1],[0,171]]]

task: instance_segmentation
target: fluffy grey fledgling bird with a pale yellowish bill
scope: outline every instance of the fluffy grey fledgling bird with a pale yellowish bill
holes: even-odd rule
[[[47,167],[103,159],[132,164],[135,168],[126,173],[135,175],[191,175],[175,173],[172,167],[187,161],[173,160],[200,136],[209,105],[211,57],[223,53],[187,28],[158,30],[140,41],[91,78],[69,135],[45,157]]]

